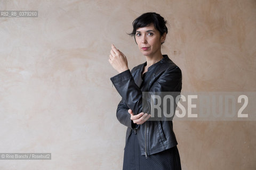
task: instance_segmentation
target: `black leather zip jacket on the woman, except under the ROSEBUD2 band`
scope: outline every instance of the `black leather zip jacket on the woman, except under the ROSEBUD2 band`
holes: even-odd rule
[[[143,112],[142,91],[140,90],[141,72],[146,62],[135,66],[131,72],[126,70],[110,78],[122,100],[118,104],[116,116],[120,123],[127,126],[126,140],[132,130],[136,130],[141,155],[151,154],[172,148],[178,145],[173,132],[172,121],[146,121],[141,125],[134,124],[128,113],[130,108],[134,114]],[[154,69],[147,84],[147,91],[181,91],[182,74],[180,68],[167,55],[161,61],[148,68]],[[175,106],[176,108],[176,106]],[[175,109],[174,109],[175,110]]]

